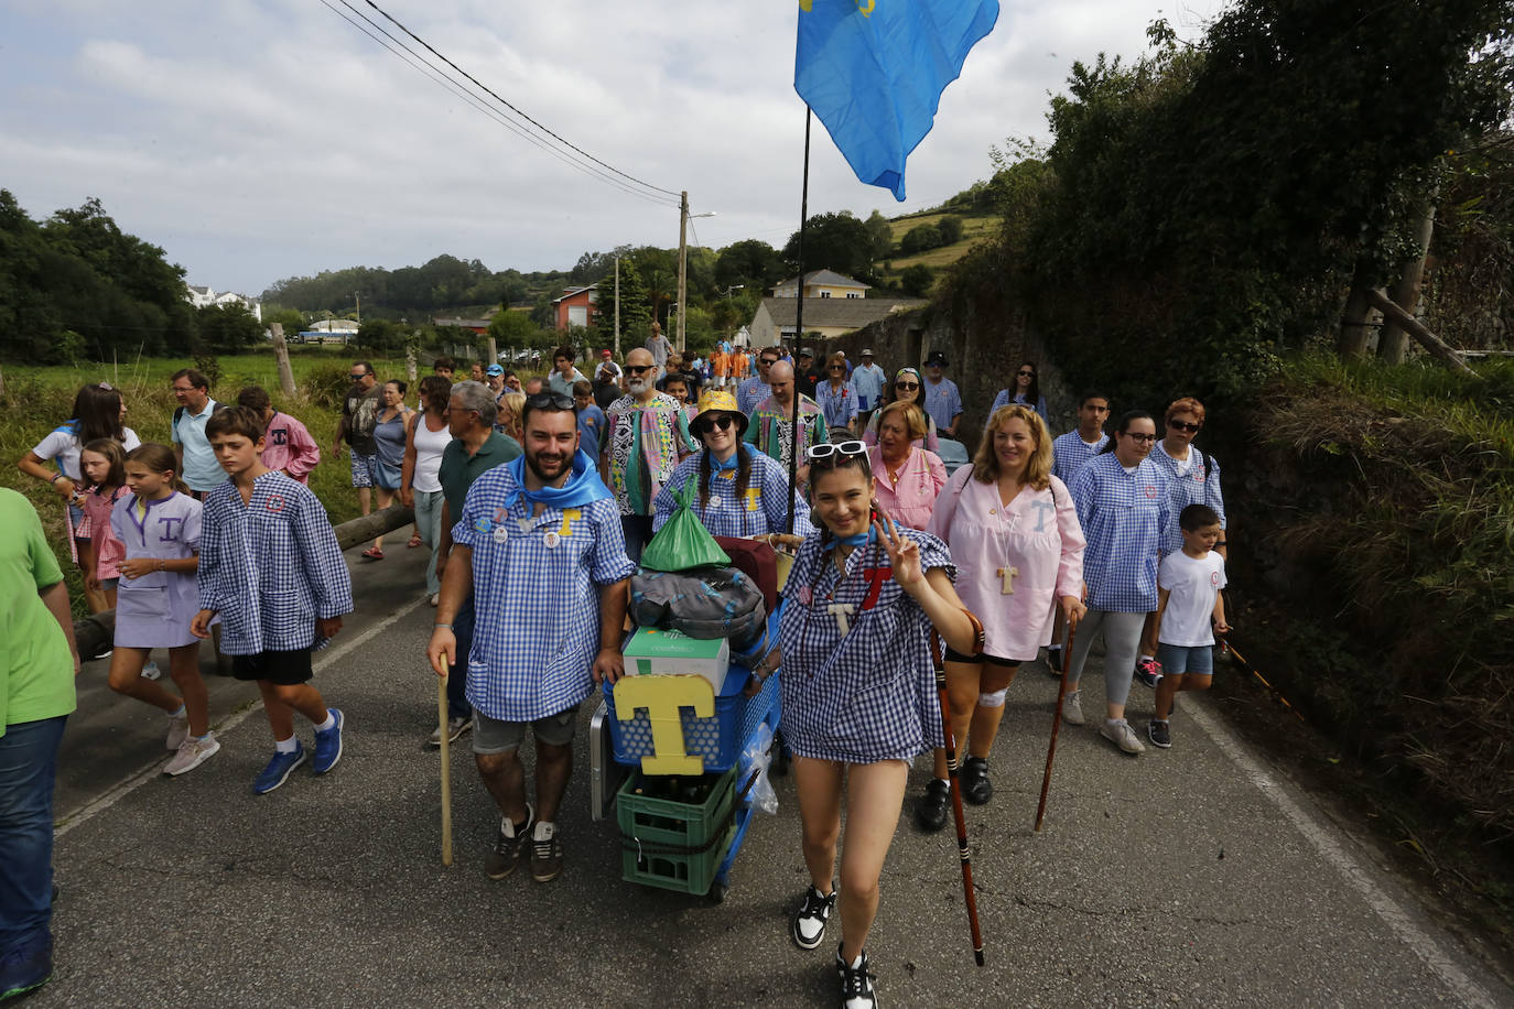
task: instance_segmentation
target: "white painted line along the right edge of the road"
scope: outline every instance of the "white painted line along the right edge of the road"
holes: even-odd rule
[[[1496,1009],[1499,1003],[1494,1001],[1493,995],[1461,970],[1440,944],[1405,914],[1403,908],[1372,879],[1367,870],[1331,837],[1331,832],[1305,812],[1287,794],[1278,779],[1257,762],[1229,729],[1216,722],[1207,711],[1202,711],[1198,703],[1190,703],[1184,713],[1214,740],[1214,744],[1235,762],[1248,781],[1282,811],[1282,815],[1297,827],[1299,834],[1314,846],[1320,856],[1346,877],[1357,893],[1361,894],[1363,900],[1367,902],[1367,906],[1393,929],[1394,935],[1405,945],[1425,961],[1425,965],[1450,988],[1461,1004]]]

